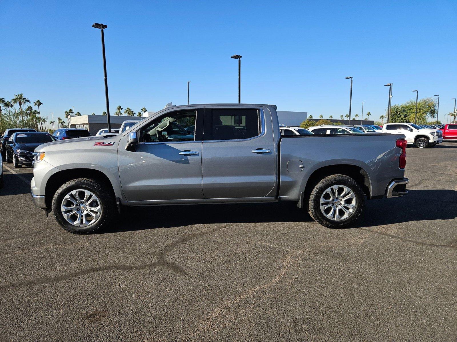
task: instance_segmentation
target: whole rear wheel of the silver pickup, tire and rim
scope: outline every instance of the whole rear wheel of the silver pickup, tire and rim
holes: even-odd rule
[[[319,181],[309,196],[309,214],[328,228],[354,223],[363,210],[365,197],[359,183],[346,175],[331,175]]]

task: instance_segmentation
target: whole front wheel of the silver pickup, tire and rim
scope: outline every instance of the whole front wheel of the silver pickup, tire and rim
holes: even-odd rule
[[[58,224],[74,234],[93,233],[117,216],[114,195],[98,180],[67,181],[54,194],[52,209]]]

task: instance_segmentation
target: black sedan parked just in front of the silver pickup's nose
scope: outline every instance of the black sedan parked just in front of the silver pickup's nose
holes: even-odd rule
[[[14,167],[32,166],[33,150],[51,141],[54,137],[46,132],[16,132],[6,141],[6,161],[12,161]]]

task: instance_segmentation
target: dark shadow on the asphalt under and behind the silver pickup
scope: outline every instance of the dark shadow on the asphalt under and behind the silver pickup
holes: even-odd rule
[[[433,200],[431,200],[433,199]],[[430,201],[433,205],[430,206]],[[457,217],[457,191],[409,190],[404,197],[367,201],[361,218],[351,228]],[[172,228],[206,223],[311,223],[295,202],[267,204],[204,204],[122,208],[115,225],[100,233]]]

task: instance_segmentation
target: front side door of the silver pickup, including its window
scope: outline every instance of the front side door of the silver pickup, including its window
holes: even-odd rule
[[[202,125],[203,109],[168,112],[138,129],[136,151],[119,146],[119,176],[129,202],[203,198]],[[194,130],[187,131],[190,126]]]

